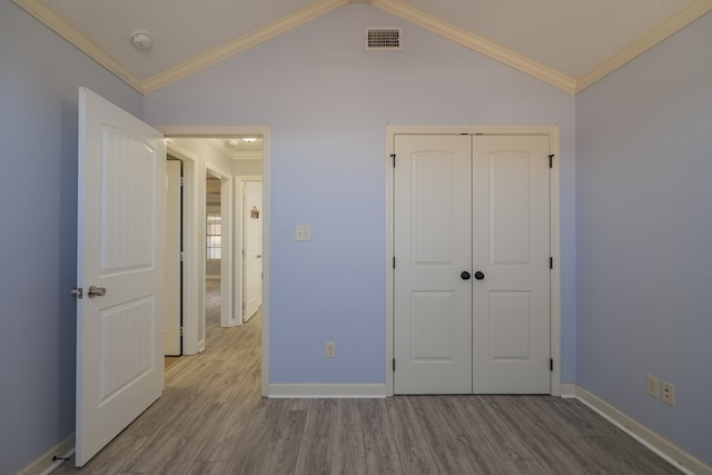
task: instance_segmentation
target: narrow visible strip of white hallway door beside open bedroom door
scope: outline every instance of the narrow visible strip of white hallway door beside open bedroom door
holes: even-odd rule
[[[177,356],[180,349],[181,310],[181,178],[180,160],[166,162],[166,305],[164,316],[164,355]]]

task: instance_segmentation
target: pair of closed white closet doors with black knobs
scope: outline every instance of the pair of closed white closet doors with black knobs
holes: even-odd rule
[[[550,393],[550,137],[395,152],[394,392]]]

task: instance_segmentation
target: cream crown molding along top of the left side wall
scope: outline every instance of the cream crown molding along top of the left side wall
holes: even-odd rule
[[[144,92],[144,85],[141,80],[123,68],[116,59],[107,55],[101,48],[99,48],[93,41],[91,41],[81,31],[70,26],[60,16],[55,13],[40,0],[12,0],[24,11],[37,18],[44,23],[49,29],[57,34],[72,43],[85,55],[103,66],[106,69],[118,76],[123,82]]]

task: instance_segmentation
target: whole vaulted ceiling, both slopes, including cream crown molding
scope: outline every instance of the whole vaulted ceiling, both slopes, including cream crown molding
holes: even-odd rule
[[[575,93],[712,11],[712,0],[13,1],[142,93],[349,3]],[[131,44],[138,30],[150,49]]]

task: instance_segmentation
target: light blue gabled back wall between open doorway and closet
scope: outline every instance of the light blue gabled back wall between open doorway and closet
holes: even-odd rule
[[[383,26],[403,28],[403,51],[364,50],[364,29]],[[154,92],[144,110],[156,126],[270,127],[270,383],[385,382],[388,123],[558,123],[562,367],[575,382],[572,96],[355,4]],[[310,243],[294,240],[297,224]]]

